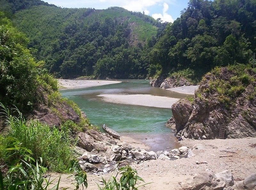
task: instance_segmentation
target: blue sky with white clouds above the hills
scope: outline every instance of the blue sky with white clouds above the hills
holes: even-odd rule
[[[118,6],[129,11],[145,12],[153,18],[173,22],[180,17],[180,11],[187,7],[189,0],[45,0],[67,8],[107,9]]]

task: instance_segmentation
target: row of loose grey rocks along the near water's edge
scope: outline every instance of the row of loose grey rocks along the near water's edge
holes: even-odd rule
[[[95,151],[85,152],[78,163],[84,171],[93,171],[101,174],[115,170],[118,166],[124,166],[128,163],[139,164],[147,160],[173,160],[188,156],[188,147],[181,146],[180,148],[169,151],[146,151],[139,147],[134,148],[130,145],[112,145],[106,151],[106,154],[96,154]],[[96,165],[98,166],[96,166]],[[104,165],[105,164],[105,165]]]

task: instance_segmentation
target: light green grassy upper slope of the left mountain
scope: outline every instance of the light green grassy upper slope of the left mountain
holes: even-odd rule
[[[132,15],[131,12],[125,9],[106,9],[95,10],[88,16],[83,16],[88,9],[61,9],[59,7],[50,6],[33,6],[27,10],[21,10],[14,14],[13,23],[28,35],[30,39],[35,36],[52,36],[57,38],[59,32],[65,24],[77,22],[80,24],[89,24],[95,21],[103,21],[105,18],[118,18],[120,20],[129,20],[135,22],[136,26],[133,30],[139,40],[145,42],[149,37],[156,35],[157,27],[144,21],[138,16]],[[38,22],[31,22],[37,20]],[[45,44],[47,45],[47,44]]]

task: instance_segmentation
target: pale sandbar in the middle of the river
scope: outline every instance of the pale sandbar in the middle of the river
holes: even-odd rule
[[[148,107],[172,108],[172,104],[179,99],[150,94],[100,94],[106,102]]]

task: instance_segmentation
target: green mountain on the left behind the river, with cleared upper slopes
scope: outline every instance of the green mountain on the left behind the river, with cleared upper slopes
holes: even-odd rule
[[[38,50],[36,59],[57,77],[146,77],[148,64],[141,54],[162,26],[158,21],[119,7],[68,9],[27,2],[35,5],[15,10],[20,1],[3,4],[15,7],[12,22],[30,39],[28,47]]]

